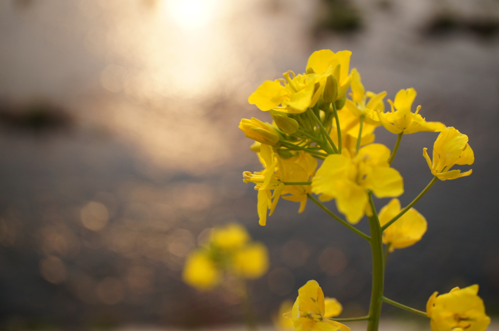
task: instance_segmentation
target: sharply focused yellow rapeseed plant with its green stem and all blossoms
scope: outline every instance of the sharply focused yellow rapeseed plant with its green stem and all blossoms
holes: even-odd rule
[[[299,202],[298,212],[304,210],[307,200],[312,200],[370,242],[373,292],[369,315],[346,320],[368,321],[368,330],[375,331],[382,302],[426,316],[383,296],[386,258],[390,252],[421,240],[427,221],[413,205],[437,180],[470,175],[471,169],[461,172],[452,167],[472,165],[475,156],[468,136],[443,123],[427,121],[421,106],[414,109],[414,88],[399,90],[385,107],[387,92],[366,90],[360,73],[355,68],[350,70],[350,56],[346,50],[316,51],[310,55],[304,72],[287,71],[284,78],[265,81],[256,88],[248,101],[268,112],[272,121],[241,120],[239,128],[254,141],[251,150],[263,167],[260,171],[245,171],[243,180],[254,183],[258,191],[260,225],[266,224],[280,197]],[[376,128],[396,135],[392,150],[375,142]],[[433,179],[402,208],[397,197],[404,193],[403,177],[392,162],[403,136],[419,132],[439,132],[431,159],[427,148],[423,149]],[[373,197],[392,199],[378,213]],[[322,203],[331,200],[345,220]],[[364,216],[370,236],[355,227]],[[490,319],[477,292],[478,286],[471,286],[441,296],[434,294],[427,312],[432,330],[484,331]],[[309,281],[299,289],[292,312],[284,315],[292,318],[296,331],[349,330],[328,319],[331,316],[325,302],[317,282]]]

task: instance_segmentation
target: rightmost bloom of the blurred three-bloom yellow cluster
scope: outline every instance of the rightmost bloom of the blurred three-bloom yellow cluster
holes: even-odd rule
[[[234,272],[244,278],[256,279],[268,269],[267,248],[260,243],[252,243],[234,253]]]

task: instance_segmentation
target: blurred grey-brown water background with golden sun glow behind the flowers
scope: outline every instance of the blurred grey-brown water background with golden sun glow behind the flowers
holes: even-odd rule
[[[367,242],[312,203],[297,214],[281,199],[260,227],[241,175],[260,165],[239,121],[270,121],[248,96],[324,48],[351,50],[368,90],[414,87],[423,116],[475,151],[471,176],[416,205],[428,232],[390,255],[386,296],[424,310],[434,291],[478,283],[494,320],[498,0],[1,0],[0,329],[237,323],[230,292],[181,280],[206,230],[233,221],[270,252],[250,284],[260,323],[309,279],[343,316],[366,314]],[[436,137],[402,140],[403,205],[432,178],[422,149]]]

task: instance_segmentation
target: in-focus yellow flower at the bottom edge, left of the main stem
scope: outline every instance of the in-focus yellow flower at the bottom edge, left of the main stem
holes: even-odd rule
[[[326,318],[324,293],[319,284],[308,281],[298,290],[291,311],[295,331],[350,331],[347,326]],[[289,314],[286,314],[289,316]]]

